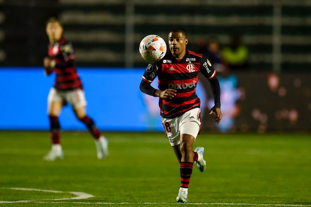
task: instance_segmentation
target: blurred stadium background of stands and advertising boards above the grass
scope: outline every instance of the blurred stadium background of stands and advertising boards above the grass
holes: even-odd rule
[[[46,96],[53,77],[43,76],[42,59],[45,22],[56,16],[76,51],[87,110],[102,130],[163,130],[156,99],[138,89],[146,67],[138,45],[149,34],[167,41],[180,26],[188,31],[190,50],[211,36],[224,47],[234,34],[249,50],[248,68],[219,74],[224,118],[215,126],[203,114],[203,130],[310,131],[310,10],[309,0],[0,0],[0,130],[48,130]],[[211,101],[206,84],[198,87],[203,109]],[[107,89],[118,94],[110,97]],[[69,109],[61,123],[84,130]]]

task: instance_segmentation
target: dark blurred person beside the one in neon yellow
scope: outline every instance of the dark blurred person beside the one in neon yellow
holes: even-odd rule
[[[205,40],[197,41],[198,53],[205,54],[218,73],[227,71],[222,59],[219,41],[216,38],[210,38],[206,44]]]

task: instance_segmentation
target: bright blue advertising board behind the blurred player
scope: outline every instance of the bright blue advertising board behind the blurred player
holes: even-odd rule
[[[156,120],[146,117],[139,90],[144,69],[79,68],[78,72],[88,103],[86,112],[101,130],[163,130],[158,108],[154,108]],[[54,79],[54,74],[46,77],[43,68],[1,68],[0,129],[48,130],[47,96]],[[70,106],[63,108],[59,121],[64,130],[86,130]]]

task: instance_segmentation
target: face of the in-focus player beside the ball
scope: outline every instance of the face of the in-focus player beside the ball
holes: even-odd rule
[[[169,33],[169,49],[175,58],[183,58],[186,53],[188,39],[182,32]]]

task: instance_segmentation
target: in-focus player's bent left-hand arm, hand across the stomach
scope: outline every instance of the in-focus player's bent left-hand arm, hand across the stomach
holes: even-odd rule
[[[141,92],[146,93],[150,96],[171,99],[176,95],[175,94],[176,90],[166,89],[164,91],[160,91],[151,86],[151,83],[158,75],[159,68],[160,64],[158,62],[150,63],[147,66],[146,71],[142,76],[142,81],[140,82],[139,89],[141,90]]]

